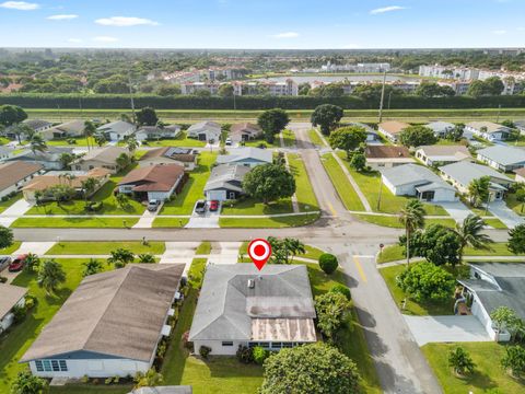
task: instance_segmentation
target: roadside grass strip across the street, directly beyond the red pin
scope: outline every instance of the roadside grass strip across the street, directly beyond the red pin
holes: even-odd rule
[[[219,225],[221,228],[240,228],[240,229],[279,229],[288,227],[306,225],[315,222],[319,218],[319,213],[298,215],[278,218],[220,218]]]

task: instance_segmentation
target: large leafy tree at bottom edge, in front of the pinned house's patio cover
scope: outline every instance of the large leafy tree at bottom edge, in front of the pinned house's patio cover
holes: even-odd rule
[[[301,368],[298,368],[301,366]],[[355,363],[336,348],[317,343],[282,349],[264,363],[259,394],[359,393]]]

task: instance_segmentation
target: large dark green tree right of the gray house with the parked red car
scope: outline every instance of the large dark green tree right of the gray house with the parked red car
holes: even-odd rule
[[[290,172],[277,164],[257,165],[243,179],[243,189],[266,205],[295,193],[295,179]]]

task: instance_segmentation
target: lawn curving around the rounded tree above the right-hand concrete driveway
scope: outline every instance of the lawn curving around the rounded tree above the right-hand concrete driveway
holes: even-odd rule
[[[390,290],[390,294],[396,304],[401,308],[401,302],[406,298],[405,292],[397,287],[396,277],[406,269],[406,265],[381,268],[380,273]],[[418,303],[407,298],[407,303],[402,313],[409,315],[450,315],[454,313],[454,300],[451,293],[448,302],[422,302]]]

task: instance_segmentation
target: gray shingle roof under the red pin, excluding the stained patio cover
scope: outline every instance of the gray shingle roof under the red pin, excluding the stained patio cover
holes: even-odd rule
[[[248,279],[255,281],[248,288]],[[249,340],[256,318],[314,318],[304,265],[210,265],[189,332],[190,340]]]

